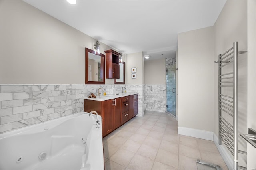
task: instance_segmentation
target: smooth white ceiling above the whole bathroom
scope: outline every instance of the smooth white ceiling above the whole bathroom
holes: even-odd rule
[[[116,49],[175,57],[178,33],[213,26],[226,0],[24,0]],[[162,52],[162,53],[161,53]]]

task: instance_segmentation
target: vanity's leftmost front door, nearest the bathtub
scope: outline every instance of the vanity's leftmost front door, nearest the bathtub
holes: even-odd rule
[[[112,100],[102,101],[102,134],[106,136],[113,130]]]

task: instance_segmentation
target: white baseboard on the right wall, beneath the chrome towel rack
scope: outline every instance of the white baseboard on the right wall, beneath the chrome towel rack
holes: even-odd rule
[[[224,162],[228,166],[228,169],[234,170],[233,160],[232,160],[232,158],[230,158],[230,156],[229,156],[228,152],[226,151],[226,149],[224,148],[224,146],[219,145],[219,138],[216,136],[216,134],[213,134],[213,141],[214,141],[214,144],[216,145],[216,147],[218,148],[220,155],[222,156]]]

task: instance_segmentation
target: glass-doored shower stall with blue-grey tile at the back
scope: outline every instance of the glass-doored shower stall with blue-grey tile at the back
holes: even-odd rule
[[[166,58],[166,111],[176,116],[176,59]]]

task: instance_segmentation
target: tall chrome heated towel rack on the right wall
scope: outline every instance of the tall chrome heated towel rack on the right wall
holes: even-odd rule
[[[238,52],[238,42],[234,42],[233,47],[215,61],[219,67],[219,145],[223,142],[234,157],[234,170],[246,170],[246,167],[238,166],[238,153],[247,154],[238,150],[238,54],[243,53],[247,51]]]

